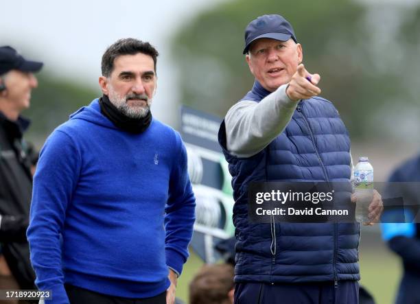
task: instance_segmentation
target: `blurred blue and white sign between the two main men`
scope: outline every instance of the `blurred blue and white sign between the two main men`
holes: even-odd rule
[[[219,117],[181,108],[181,135],[197,204],[191,246],[206,263],[220,257],[214,245],[234,234],[231,175],[218,143],[221,122]]]

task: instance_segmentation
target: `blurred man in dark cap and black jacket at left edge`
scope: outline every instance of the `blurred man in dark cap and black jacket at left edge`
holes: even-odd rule
[[[0,47],[0,289],[36,289],[26,229],[32,195],[31,161],[22,139],[29,121],[33,73],[42,62],[25,60],[12,47]]]

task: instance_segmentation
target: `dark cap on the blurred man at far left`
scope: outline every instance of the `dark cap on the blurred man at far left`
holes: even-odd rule
[[[38,72],[42,67],[43,62],[26,60],[13,47],[0,47],[0,75],[10,70]]]

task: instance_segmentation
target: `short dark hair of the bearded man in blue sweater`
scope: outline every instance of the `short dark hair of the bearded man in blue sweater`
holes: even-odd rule
[[[119,39],[106,49],[102,56],[102,76],[109,77],[114,69],[114,60],[122,55],[135,55],[142,53],[153,58],[154,72],[156,73],[156,61],[159,56],[158,51],[148,42],[143,42],[135,38]]]

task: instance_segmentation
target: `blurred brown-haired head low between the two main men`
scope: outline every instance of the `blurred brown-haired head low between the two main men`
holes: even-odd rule
[[[205,265],[189,283],[189,304],[230,303],[228,294],[233,288],[233,266]]]

